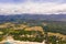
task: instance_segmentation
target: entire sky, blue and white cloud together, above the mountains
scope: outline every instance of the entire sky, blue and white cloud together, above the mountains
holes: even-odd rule
[[[0,13],[66,13],[66,0],[0,0]]]

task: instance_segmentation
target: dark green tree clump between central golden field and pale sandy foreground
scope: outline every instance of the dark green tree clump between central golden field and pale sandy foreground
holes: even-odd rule
[[[35,37],[28,37],[28,35],[34,35],[35,33],[37,33],[37,35]],[[14,31],[12,33],[10,33],[11,35],[13,35],[14,40],[19,40],[19,41],[33,41],[33,42],[42,42],[43,41],[43,35],[41,34],[41,32],[36,32],[36,31],[24,31],[24,30],[20,30],[20,31]],[[20,36],[23,35],[24,37]]]

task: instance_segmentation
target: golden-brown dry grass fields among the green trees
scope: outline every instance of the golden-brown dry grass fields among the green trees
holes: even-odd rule
[[[4,23],[4,24],[1,24],[0,28],[8,28],[8,26],[12,26],[13,30],[25,30],[25,31],[41,31],[42,33],[43,32],[43,28],[42,26],[29,26],[29,25],[25,25],[25,24],[20,24],[18,28],[15,28],[15,24],[13,23]],[[59,34],[59,33],[51,33],[48,32],[48,35],[56,35],[56,36],[59,36],[59,37],[64,37],[66,38],[66,35],[63,35],[63,34]]]

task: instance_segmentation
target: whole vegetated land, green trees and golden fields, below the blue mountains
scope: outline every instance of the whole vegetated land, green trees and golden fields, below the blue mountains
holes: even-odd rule
[[[25,22],[25,21],[24,21]],[[4,35],[10,35],[18,41],[43,42],[44,40],[52,44],[66,44],[66,22],[22,22],[22,23],[3,23],[0,24],[0,41],[4,40]],[[43,24],[46,24],[43,25]],[[4,28],[2,28],[6,25]],[[35,30],[33,26],[41,26]],[[29,29],[30,28],[30,29]],[[29,29],[29,30],[28,30]],[[48,33],[61,33],[59,35],[48,35]]]

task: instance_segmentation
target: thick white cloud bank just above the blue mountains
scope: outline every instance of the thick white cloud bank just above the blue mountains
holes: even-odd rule
[[[25,2],[20,4],[0,4],[0,13],[65,13],[66,12],[66,3],[34,3],[34,2]]]

